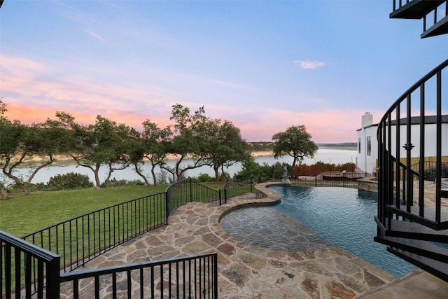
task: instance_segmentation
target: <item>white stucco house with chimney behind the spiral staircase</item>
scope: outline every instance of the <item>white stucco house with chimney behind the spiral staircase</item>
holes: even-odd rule
[[[426,116],[425,119],[425,157],[435,156],[436,148],[436,127],[435,116]],[[393,122],[392,122],[393,124]],[[411,156],[419,157],[419,139],[420,139],[420,117],[411,118],[411,141],[414,145]],[[370,112],[364,113],[361,120],[361,127],[358,132],[358,154],[356,157],[357,172],[367,172],[372,174],[376,172],[378,158],[378,141],[377,141],[378,123],[373,123],[373,115]],[[395,126],[391,128],[391,138],[396,137],[396,120]],[[448,156],[448,115],[442,116],[442,157]],[[405,157],[406,149],[403,147],[407,144],[407,132],[405,119],[400,119],[400,157]],[[395,153],[396,149],[391,148],[391,153]]]

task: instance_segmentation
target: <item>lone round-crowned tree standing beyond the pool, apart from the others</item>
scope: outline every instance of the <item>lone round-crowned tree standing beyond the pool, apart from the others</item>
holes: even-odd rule
[[[313,158],[318,150],[318,146],[311,141],[311,134],[307,132],[304,125],[288,127],[285,132],[274,134],[272,141],[274,141],[274,158],[290,155],[294,158],[293,168],[305,157]]]

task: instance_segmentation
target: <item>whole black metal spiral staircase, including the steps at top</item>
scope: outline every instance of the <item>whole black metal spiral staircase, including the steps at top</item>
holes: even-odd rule
[[[394,0],[390,18],[423,19],[423,39],[448,33],[447,11],[448,1]],[[397,99],[377,132],[374,241],[448,281],[448,60]]]

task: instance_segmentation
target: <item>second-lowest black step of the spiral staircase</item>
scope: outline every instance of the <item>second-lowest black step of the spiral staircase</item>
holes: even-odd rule
[[[424,256],[442,263],[448,263],[448,249],[423,240],[381,236],[375,237],[374,241],[391,246],[394,249],[401,249],[409,253],[414,253],[417,256]]]

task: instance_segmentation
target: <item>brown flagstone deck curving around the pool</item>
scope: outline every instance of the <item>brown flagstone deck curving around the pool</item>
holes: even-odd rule
[[[169,225],[94,258],[85,268],[217,252],[219,298],[446,298],[448,283],[422,270],[397,279],[336,247],[271,250],[225,232],[219,220],[228,211],[279,200],[265,185],[256,186],[257,195],[238,195],[221,207],[185,204],[169,216]],[[302,242],[311,246],[313,238],[304,237]]]

